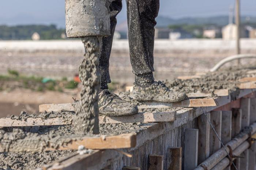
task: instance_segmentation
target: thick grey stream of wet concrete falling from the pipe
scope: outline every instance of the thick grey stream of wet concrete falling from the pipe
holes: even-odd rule
[[[81,100],[76,104],[74,127],[76,134],[99,134],[98,92],[99,76],[99,43],[101,37],[87,36],[82,39],[85,54],[79,67],[79,78],[82,82]]]

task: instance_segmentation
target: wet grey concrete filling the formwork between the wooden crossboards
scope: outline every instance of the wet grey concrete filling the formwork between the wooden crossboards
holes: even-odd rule
[[[250,69],[237,69],[237,70],[222,70],[215,73],[209,73],[203,75],[200,79],[189,80],[172,80],[165,81],[167,87],[175,91],[182,92],[195,92],[201,91],[214,91],[216,89],[229,88],[236,91],[235,83],[238,79],[253,76],[246,74]],[[233,81],[233,82],[229,82]],[[133,100],[130,96],[126,95],[127,100]],[[172,109],[172,108],[170,108]],[[144,109],[140,111],[166,111],[166,108],[162,109]],[[25,120],[29,117],[46,119],[48,117],[63,117],[67,120],[71,120],[74,113],[72,112],[42,112],[39,115],[27,114],[22,112],[19,116],[11,116],[10,118],[16,120]],[[138,133],[143,131],[141,127],[143,123],[117,123],[117,124],[99,124],[99,134],[123,134],[123,133]],[[18,134],[18,135],[17,135]],[[23,138],[23,135],[31,135],[31,137],[39,135],[48,135],[50,137],[57,137],[60,135],[73,135],[75,134],[75,128],[71,125],[62,126],[40,126],[40,127],[9,127],[0,129],[0,143],[2,146],[8,146],[8,142],[15,140],[15,138]],[[7,137],[8,136],[8,137]],[[89,136],[92,136],[91,134]],[[8,139],[8,140],[7,140]],[[57,143],[58,144],[58,143]],[[56,145],[57,145],[56,144]],[[44,164],[49,164],[62,157],[75,153],[74,150],[67,151],[46,151],[46,152],[3,152],[0,153],[0,169],[36,169],[42,167]]]

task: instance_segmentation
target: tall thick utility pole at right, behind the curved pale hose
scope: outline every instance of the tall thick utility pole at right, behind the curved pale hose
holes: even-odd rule
[[[236,54],[240,54],[240,0],[236,0],[236,27]],[[240,64],[239,59],[238,64]]]

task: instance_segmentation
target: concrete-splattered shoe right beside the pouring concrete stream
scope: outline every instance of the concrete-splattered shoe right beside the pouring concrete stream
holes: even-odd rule
[[[138,107],[106,89],[99,92],[99,113],[106,116],[127,116],[138,113]]]

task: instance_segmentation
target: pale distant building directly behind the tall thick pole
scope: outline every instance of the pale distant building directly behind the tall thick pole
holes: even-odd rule
[[[237,37],[237,27],[235,24],[228,24],[222,28],[222,39],[235,40]],[[244,27],[240,28],[240,37],[246,37],[246,31]]]

